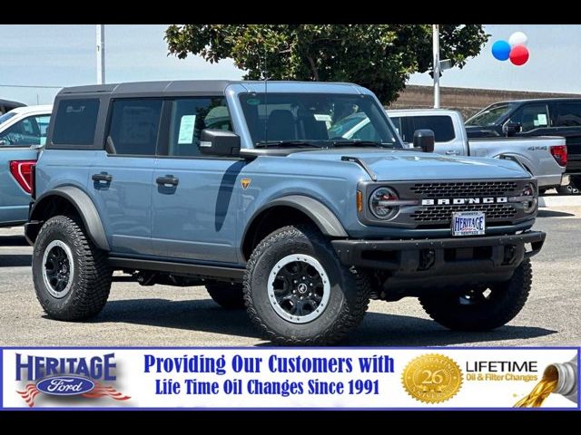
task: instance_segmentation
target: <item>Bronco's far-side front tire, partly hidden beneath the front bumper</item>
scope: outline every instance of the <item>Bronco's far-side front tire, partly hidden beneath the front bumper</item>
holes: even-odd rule
[[[530,260],[523,260],[508,281],[491,285],[489,297],[476,304],[460,304],[457,295],[419,298],[426,313],[438,324],[455,331],[489,331],[507,324],[527,302],[532,283]]]

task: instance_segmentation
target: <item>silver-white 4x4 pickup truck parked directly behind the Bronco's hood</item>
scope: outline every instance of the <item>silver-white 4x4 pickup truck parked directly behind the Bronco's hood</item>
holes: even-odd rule
[[[541,193],[568,184],[563,179],[566,167],[565,138],[487,138],[468,140],[462,115],[445,109],[407,109],[387,111],[399,135],[413,142],[414,131],[434,131],[434,151],[451,156],[516,158],[538,180]],[[363,126],[359,127],[363,130]]]

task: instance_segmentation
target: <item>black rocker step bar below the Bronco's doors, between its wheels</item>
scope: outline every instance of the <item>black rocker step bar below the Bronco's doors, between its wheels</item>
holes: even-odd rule
[[[154,270],[168,274],[229,278],[240,281],[245,271],[245,269],[238,267],[173,263],[171,261],[143,260],[140,258],[123,258],[119,256],[110,256],[109,265],[124,269]]]

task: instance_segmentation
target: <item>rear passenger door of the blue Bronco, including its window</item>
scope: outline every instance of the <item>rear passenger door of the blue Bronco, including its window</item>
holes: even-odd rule
[[[161,98],[116,99],[89,174],[89,187],[111,250],[153,254],[153,168],[162,117]]]

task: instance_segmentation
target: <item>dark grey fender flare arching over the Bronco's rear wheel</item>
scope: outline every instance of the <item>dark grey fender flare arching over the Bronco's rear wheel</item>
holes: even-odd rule
[[[105,236],[103,222],[93,200],[83,190],[74,186],[60,186],[44,192],[43,195],[34,201],[33,207],[30,210],[29,223],[34,224],[38,221],[46,220],[40,215],[39,210],[44,208],[45,201],[49,201],[51,197],[61,197],[70,202],[83,220],[84,228],[96,247],[105,251],[110,250],[109,242],[107,242],[107,237]],[[28,230],[28,227],[26,227],[26,230]],[[29,237],[29,235],[27,234],[26,237]],[[29,238],[34,239],[35,235]]]

